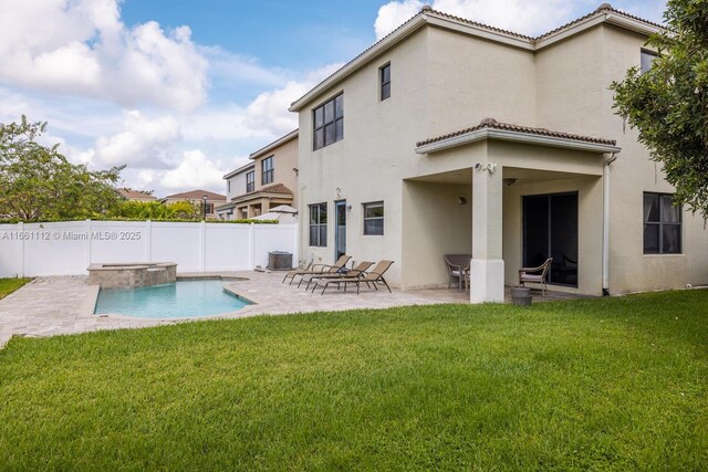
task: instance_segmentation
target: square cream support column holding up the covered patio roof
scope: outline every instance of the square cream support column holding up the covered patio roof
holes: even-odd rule
[[[494,167],[482,162],[472,170],[471,303],[504,301],[502,169]]]

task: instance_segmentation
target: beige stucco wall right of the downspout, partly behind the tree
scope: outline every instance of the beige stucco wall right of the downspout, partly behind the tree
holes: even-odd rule
[[[620,81],[628,65],[639,64],[644,39],[614,27],[605,27],[604,82]],[[605,90],[605,133],[617,139],[622,153],[612,165],[611,177],[611,292],[679,289],[708,284],[708,231],[700,218],[684,212],[683,254],[645,255],[643,250],[643,192],[673,193],[662,166],[649,160],[637,143],[637,132],[623,130],[622,118],[610,112],[612,91]]]

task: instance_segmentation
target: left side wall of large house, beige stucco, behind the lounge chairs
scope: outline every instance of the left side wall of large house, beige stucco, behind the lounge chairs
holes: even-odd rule
[[[347,253],[356,261],[393,260],[387,280],[399,285],[402,271],[402,172],[418,156],[416,139],[425,137],[428,98],[427,31],[402,43],[391,54],[323,93],[300,112],[301,254],[331,263],[334,260],[334,201],[346,200]],[[378,67],[391,62],[392,94],[379,101]],[[312,150],[312,109],[344,92],[344,139]],[[415,117],[415,118],[413,118]],[[339,189],[339,191],[337,191]],[[362,204],[384,201],[384,235],[363,234]],[[327,247],[309,245],[309,209],[326,202]]]

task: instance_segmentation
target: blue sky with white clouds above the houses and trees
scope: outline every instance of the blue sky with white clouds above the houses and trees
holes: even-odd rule
[[[290,103],[424,4],[539,35],[601,0],[0,0],[0,123],[158,197],[222,176],[298,127]],[[613,7],[660,22],[664,0]]]

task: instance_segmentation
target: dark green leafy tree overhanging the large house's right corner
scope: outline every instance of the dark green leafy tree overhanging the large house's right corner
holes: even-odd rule
[[[669,0],[667,28],[647,45],[652,69],[632,67],[614,82],[615,108],[639,132],[676,188],[675,203],[708,218],[708,1]]]

